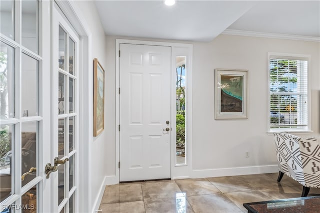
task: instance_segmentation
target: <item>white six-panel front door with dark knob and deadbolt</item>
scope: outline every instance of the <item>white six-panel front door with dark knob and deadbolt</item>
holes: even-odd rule
[[[119,181],[170,178],[171,47],[120,43]]]

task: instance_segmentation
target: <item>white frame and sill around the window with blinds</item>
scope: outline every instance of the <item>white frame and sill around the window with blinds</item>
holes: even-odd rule
[[[290,60],[306,60],[307,61],[307,125],[306,126],[301,126],[297,128],[271,128],[270,125],[270,58],[271,57],[277,57],[278,59],[290,59]],[[267,84],[268,84],[268,89],[267,89],[267,97],[268,97],[268,111],[267,111],[267,132],[268,133],[273,133],[273,132],[312,132],[311,131],[311,120],[310,120],[310,106],[311,106],[311,99],[310,99],[310,64],[311,64],[311,57],[310,55],[306,54],[293,54],[293,53],[281,53],[281,52],[268,52],[268,57],[267,57]],[[294,93],[293,93],[294,94]]]

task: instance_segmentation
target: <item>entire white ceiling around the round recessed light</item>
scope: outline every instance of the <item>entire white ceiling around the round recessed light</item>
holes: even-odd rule
[[[320,37],[320,0],[97,0],[107,35],[210,41],[225,29]]]

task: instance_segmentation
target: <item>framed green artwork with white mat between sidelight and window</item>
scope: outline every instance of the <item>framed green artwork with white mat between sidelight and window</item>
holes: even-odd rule
[[[215,69],[214,119],[247,119],[247,70]]]

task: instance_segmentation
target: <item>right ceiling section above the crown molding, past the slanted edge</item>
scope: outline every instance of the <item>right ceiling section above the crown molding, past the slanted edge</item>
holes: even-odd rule
[[[260,1],[228,29],[320,37],[320,0]]]

